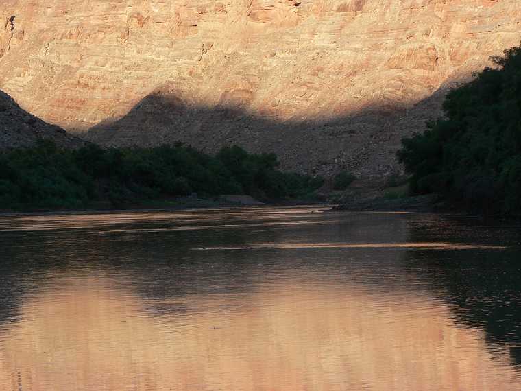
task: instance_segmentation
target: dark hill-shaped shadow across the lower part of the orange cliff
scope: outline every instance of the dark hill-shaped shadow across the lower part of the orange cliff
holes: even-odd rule
[[[361,178],[385,177],[399,168],[400,140],[441,115],[446,89],[411,108],[367,107],[327,120],[252,114],[247,108],[186,104],[175,95],[152,94],[127,115],[99,123],[84,138],[104,146],[154,146],[182,142],[214,153],[226,145],[274,152],[282,169],[330,175],[348,169]]]

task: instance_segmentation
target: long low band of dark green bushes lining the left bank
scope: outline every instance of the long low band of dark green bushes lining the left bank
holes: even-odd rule
[[[274,154],[226,147],[210,156],[184,145],[77,150],[41,139],[0,152],[0,209],[113,207],[146,200],[247,194],[261,200],[306,198],[322,178],[279,171]]]

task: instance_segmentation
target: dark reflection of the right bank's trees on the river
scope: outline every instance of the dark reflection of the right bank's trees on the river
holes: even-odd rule
[[[511,247],[476,251],[472,257],[411,250],[409,268],[425,276],[444,297],[459,324],[483,329],[492,348],[506,344],[513,363],[521,366],[521,224],[474,220],[433,218],[428,224],[413,224],[411,240],[436,235]]]

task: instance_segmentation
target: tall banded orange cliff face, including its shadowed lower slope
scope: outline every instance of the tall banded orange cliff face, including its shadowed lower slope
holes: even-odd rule
[[[3,0],[0,21],[0,88],[66,130],[362,176],[521,40],[519,0]]]

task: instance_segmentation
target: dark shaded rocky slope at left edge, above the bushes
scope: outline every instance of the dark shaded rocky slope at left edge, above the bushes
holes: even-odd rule
[[[58,145],[78,147],[84,141],[67,134],[56,125],[22,110],[14,99],[0,91],[0,150],[10,147],[27,147],[38,138],[53,139]]]

